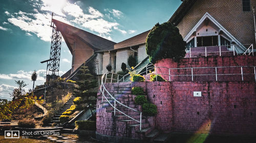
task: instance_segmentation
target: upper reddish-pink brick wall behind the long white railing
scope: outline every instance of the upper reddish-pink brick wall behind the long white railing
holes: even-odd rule
[[[156,67],[166,68],[189,68],[170,70],[171,75],[189,75],[189,76],[171,76],[170,81],[191,81],[191,67],[228,67],[228,66],[255,66],[256,57],[248,55],[240,56],[211,56],[211,57],[200,57],[200,58],[185,58],[179,63],[173,62],[172,59],[162,59],[157,61]],[[157,74],[168,74],[168,69],[158,68]],[[230,67],[230,68],[218,68],[218,74],[239,74],[239,75],[218,75],[218,81],[242,81],[241,67]],[[244,81],[255,81],[253,67],[243,68]],[[245,75],[248,74],[249,75]],[[193,69],[194,81],[216,81],[215,68],[207,69]],[[208,76],[195,76],[196,74],[212,74]],[[169,80],[168,75],[162,75],[166,80]]]

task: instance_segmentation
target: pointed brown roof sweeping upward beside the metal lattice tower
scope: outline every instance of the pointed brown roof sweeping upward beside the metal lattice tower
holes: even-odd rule
[[[110,50],[110,49],[113,49],[114,44],[116,44],[113,41],[99,37],[97,35],[87,32],[87,31],[83,31],[83,30],[81,30],[77,27],[74,27],[72,25],[60,22],[55,19],[52,19],[52,21],[56,25],[57,30],[60,31],[61,35],[63,36],[71,53],[73,52],[72,46],[71,46],[71,45],[73,45],[73,43],[72,43],[72,40],[69,40],[69,39],[78,38],[82,42],[89,45],[94,51]]]

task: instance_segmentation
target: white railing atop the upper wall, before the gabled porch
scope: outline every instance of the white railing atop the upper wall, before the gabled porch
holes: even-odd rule
[[[249,48],[247,48],[249,46]],[[219,47],[218,51],[210,51],[212,47]],[[221,48],[222,47],[226,47],[228,50],[222,51]],[[243,53],[246,54],[247,52],[252,53],[253,55],[253,44],[242,44],[242,45],[221,45],[221,46],[204,46],[204,47],[193,47],[193,48],[204,48],[203,52],[193,52],[191,51],[191,48],[189,48],[189,50],[186,50],[187,53],[189,53],[189,58],[194,58],[194,57],[198,57],[198,56],[193,56],[192,54],[195,53],[201,53],[203,54],[205,57],[209,56],[210,53],[217,53],[219,56],[222,56],[222,53],[225,52],[233,52],[233,56],[235,56],[236,54],[239,53]],[[247,48],[247,50],[244,52],[243,49]],[[250,51],[250,48],[252,49]],[[202,51],[202,50],[201,50]]]

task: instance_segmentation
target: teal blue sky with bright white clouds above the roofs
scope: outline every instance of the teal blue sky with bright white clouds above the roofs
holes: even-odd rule
[[[32,89],[45,82],[50,58],[53,18],[116,43],[166,22],[180,6],[178,0],[8,0],[0,1],[0,99],[11,97],[15,80]],[[72,55],[62,39],[59,75],[71,69]]]

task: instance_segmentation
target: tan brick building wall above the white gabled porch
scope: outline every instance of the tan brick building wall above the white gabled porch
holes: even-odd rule
[[[250,1],[251,8],[256,1]],[[201,17],[208,12],[242,44],[254,43],[253,12],[244,12],[241,0],[201,0],[197,1],[182,18],[177,27],[184,38]]]

